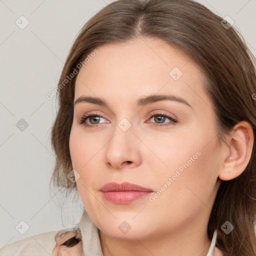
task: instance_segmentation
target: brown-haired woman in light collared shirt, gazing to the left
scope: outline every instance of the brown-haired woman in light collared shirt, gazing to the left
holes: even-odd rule
[[[94,15],[62,70],[51,133],[52,180],[85,211],[0,255],[255,255],[256,76],[241,38],[191,0]]]

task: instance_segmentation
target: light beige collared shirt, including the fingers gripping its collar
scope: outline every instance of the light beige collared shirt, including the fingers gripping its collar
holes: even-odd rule
[[[206,256],[219,256],[213,233]],[[79,223],[59,231],[50,231],[12,242],[0,249],[0,256],[103,256],[99,232],[87,212]]]

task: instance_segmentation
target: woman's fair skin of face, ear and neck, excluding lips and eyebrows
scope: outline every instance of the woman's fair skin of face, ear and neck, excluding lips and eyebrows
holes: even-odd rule
[[[202,72],[190,57],[159,39],[136,38],[98,50],[77,75],[74,100],[82,95],[99,97],[109,107],[75,104],[69,147],[72,166],[80,175],[76,174],[77,189],[99,228],[104,255],[205,256],[218,177],[234,178],[246,167],[253,143],[250,125],[241,122],[227,144],[220,144]],[[183,73],[177,80],[169,75],[174,67]],[[191,107],[170,100],[136,106],[138,98],[150,94],[173,94]],[[86,113],[103,117],[94,122],[87,118],[85,126],[78,121]],[[150,113],[178,122],[160,121]],[[123,118],[131,124],[126,131],[118,126]],[[170,125],[153,126],[162,122]],[[196,152],[200,155],[166,185]],[[165,184],[165,191],[154,201],[146,196],[115,204],[99,191],[110,181],[135,183],[151,188],[153,194]],[[118,228],[123,221],[130,226],[126,233]]]

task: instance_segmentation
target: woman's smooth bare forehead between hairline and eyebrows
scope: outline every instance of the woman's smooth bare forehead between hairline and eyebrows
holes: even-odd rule
[[[191,105],[199,106],[199,97],[207,100],[199,67],[160,39],[136,38],[97,49],[77,75],[75,98],[89,95],[125,102],[161,92],[183,96]]]

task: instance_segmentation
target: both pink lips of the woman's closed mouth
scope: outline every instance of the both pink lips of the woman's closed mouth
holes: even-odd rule
[[[100,191],[105,200],[115,204],[128,204],[153,192],[150,188],[129,182],[109,182],[104,184]]]

